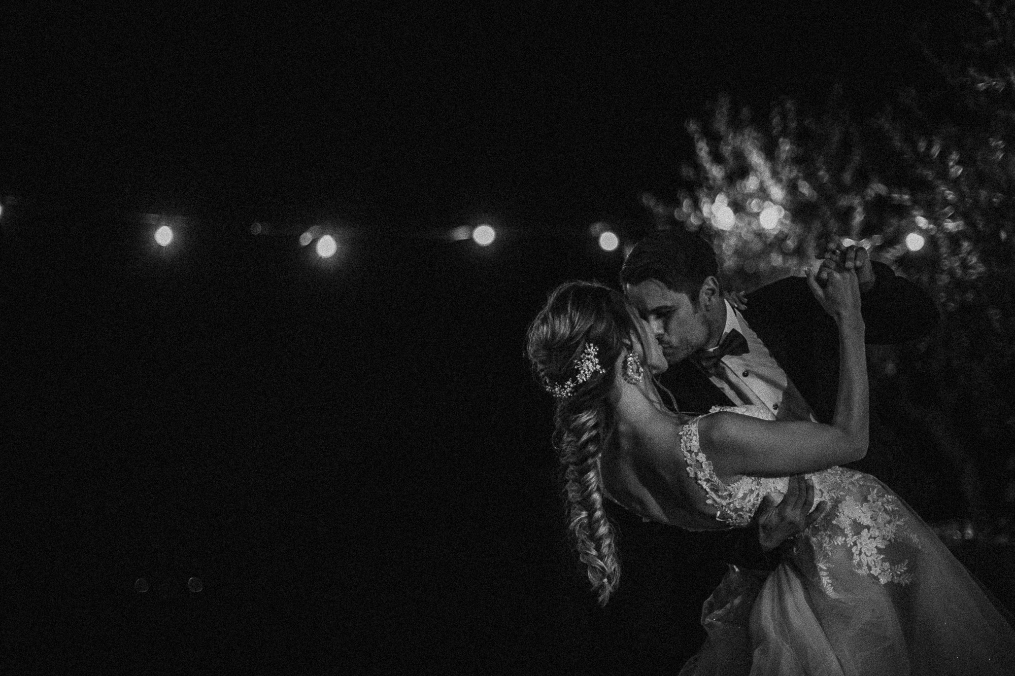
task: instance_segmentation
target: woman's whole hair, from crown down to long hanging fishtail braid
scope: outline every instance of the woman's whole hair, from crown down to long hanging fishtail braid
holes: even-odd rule
[[[606,605],[620,581],[614,526],[603,508],[600,457],[613,429],[607,394],[617,358],[637,335],[623,295],[595,282],[566,282],[550,293],[529,327],[527,355],[536,379],[548,389],[572,384],[556,398],[553,446],[563,465],[567,530],[585,563],[592,589]],[[576,378],[587,346],[600,368]]]

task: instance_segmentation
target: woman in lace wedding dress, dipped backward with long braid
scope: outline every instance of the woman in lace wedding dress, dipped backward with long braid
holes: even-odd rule
[[[623,295],[591,282],[556,288],[527,352],[556,400],[568,529],[599,601],[620,579],[604,497],[688,530],[749,524],[790,477],[813,482],[821,514],[770,574],[730,572],[705,602],[705,645],[681,674],[1012,674],[1007,613],[887,486],[839,467],[868,444],[864,322],[854,272],[810,273],[839,331],[832,424],[775,421],[759,407],[667,410],[653,378],[659,344]],[[667,393],[668,394],[668,393]]]

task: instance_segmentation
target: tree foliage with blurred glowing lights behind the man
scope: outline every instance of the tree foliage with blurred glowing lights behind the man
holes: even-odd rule
[[[838,95],[817,118],[784,100],[764,126],[720,99],[710,125],[687,126],[691,188],[677,204],[645,203],[709,236],[732,288],[800,274],[831,241],[864,246],[922,284],[943,328],[888,358],[884,375],[905,368],[909,410],[930,406],[959,427],[972,420],[982,470],[997,475],[990,449],[1015,431],[1015,0],[969,9],[958,53],[925,46],[939,91],[902,91],[859,123]],[[1015,456],[1008,464],[1015,471]],[[1015,500],[1015,482],[1008,492]]]

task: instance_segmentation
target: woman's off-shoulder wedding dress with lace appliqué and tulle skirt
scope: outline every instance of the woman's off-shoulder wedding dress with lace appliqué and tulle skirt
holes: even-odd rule
[[[716,407],[772,419],[757,406]],[[789,479],[723,483],[681,433],[687,472],[716,519],[747,526]],[[832,467],[808,475],[828,511],[784,546],[770,574],[730,571],[705,602],[702,649],[682,676],[1015,674],[1015,630],[920,517],[869,474]]]

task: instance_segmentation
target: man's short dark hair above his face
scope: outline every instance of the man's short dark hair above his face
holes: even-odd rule
[[[620,268],[620,284],[658,279],[697,305],[706,277],[719,279],[716,252],[703,238],[682,227],[656,230],[631,249]]]

